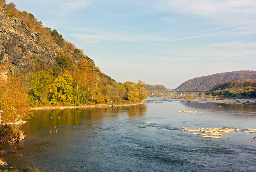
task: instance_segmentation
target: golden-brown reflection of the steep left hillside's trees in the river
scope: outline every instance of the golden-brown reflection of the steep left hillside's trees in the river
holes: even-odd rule
[[[92,127],[102,124],[103,118],[116,118],[120,114],[127,112],[128,117],[145,116],[147,105],[106,108],[69,108],[69,109],[46,109],[35,110],[35,117],[31,117],[28,123],[21,126],[26,135],[33,135],[37,132],[47,132],[61,128],[74,128],[83,125]]]

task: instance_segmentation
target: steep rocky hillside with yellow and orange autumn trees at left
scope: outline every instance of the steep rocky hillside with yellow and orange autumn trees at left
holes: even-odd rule
[[[145,84],[118,83],[82,49],[29,12],[0,0],[0,106],[2,120],[28,118],[29,106],[142,102]]]

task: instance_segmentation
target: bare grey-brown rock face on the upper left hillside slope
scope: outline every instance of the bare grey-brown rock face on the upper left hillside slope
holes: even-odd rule
[[[30,74],[35,64],[44,69],[55,65],[56,53],[43,42],[22,20],[0,12],[0,65],[6,72]]]

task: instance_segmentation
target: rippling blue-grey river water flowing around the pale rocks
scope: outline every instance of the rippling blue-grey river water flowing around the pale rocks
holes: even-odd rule
[[[197,113],[177,113],[181,110]],[[35,114],[21,125],[27,135],[22,156],[4,157],[17,167],[49,172],[256,171],[255,133],[238,131],[215,139],[181,131],[256,128],[256,105],[151,98],[138,106]]]

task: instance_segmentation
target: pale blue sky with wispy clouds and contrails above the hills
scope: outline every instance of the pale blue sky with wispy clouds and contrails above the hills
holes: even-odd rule
[[[256,69],[255,0],[6,0],[56,29],[116,82],[177,88]]]

